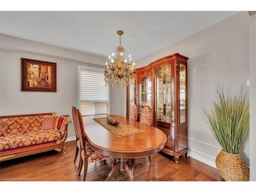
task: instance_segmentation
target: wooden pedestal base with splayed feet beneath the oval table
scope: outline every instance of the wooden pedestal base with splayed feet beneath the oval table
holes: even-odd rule
[[[120,159],[120,161],[114,165],[110,174],[108,175],[108,177],[106,177],[105,181],[110,181],[114,177],[115,173],[118,172],[118,170],[126,171],[130,181],[134,181],[133,172],[131,167],[129,166],[129,159]]]

